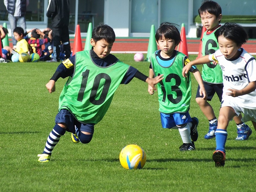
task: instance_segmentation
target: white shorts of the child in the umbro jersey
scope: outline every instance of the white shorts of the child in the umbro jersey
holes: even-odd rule
[[[234,101],[232,100],[224,100],[221,104],[222,107],[232,107],[235,110],[235,113],[237,116],[239,116],[241,113],[244,114],[242,121],[254,121],[256,122],[256,109],[248,109],[238,106]]]

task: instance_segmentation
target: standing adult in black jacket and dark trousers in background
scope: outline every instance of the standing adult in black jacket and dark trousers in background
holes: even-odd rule
[[[65,58],[71,55],[69,41],[69,0],[49,0],[46,16],[52,19],[53,59],[60,61],[60,44],[62,42]]]

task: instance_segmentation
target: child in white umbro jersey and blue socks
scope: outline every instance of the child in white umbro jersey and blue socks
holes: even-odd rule
[[[243,48],[248,36],[242,26],[226,23],[220,27],[215,36],[218,39],[219,50],[214,54],[201,57],[190,62],[183,68],[183,76],[190,66],[216,61],[223,73],[222,105],[218,118],[216,135],[216,151],[212,158],[215,166],[224,166],[226,159],[225,144],[228,123],[234,116],[243,113],[243,121],[252,121],[256,130],[256,60]],[[248,129],[248,135],[252,130]]]

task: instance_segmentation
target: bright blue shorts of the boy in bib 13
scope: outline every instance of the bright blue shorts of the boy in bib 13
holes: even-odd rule
[[[165,114],[161,113],[161,122],[163,128],[172,128],[176,125],[182,125],[189,122],[192,122],[192,118],[188,112],[186,113],[172,113],[172,114]]]

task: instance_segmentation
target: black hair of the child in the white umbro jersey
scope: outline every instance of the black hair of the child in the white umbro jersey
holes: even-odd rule
[[[241,25],[236,23],[225,23],[223,26],[218,28],[215,32],[215,36],[218,37],[223,35],[224,38],[232,40],[237,46],[242,46],[248,40],[248,34]]]

